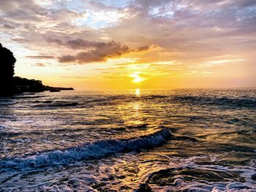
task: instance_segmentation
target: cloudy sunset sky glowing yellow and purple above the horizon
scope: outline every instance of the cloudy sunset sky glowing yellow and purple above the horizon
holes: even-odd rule
[[[256,86],[256,0],[0,0],[0,28],[45,85]]]

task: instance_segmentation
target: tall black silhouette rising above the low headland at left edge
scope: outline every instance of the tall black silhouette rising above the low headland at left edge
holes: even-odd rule
[[[12,51],[2,47],[0,43],[0,95],[7,95],[14,91],[13,75],[16,58]]]

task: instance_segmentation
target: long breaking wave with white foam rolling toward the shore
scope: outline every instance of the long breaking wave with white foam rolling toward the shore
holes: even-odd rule
[[[26,158],[3,158],[0,169],[31,169],[35,167],[69,164],[86,159],[102,158],[114,153],[129,152],[162,145],[170,137],[168,128],[162,128],[153,134],[132,139],[100,140],[89,145],[70,147],[65,150],[53,150]]]

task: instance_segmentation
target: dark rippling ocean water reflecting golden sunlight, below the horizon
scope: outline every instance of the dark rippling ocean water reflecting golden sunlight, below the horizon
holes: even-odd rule
[[[0,191],[256,191],[256,89],[0,98]]]

